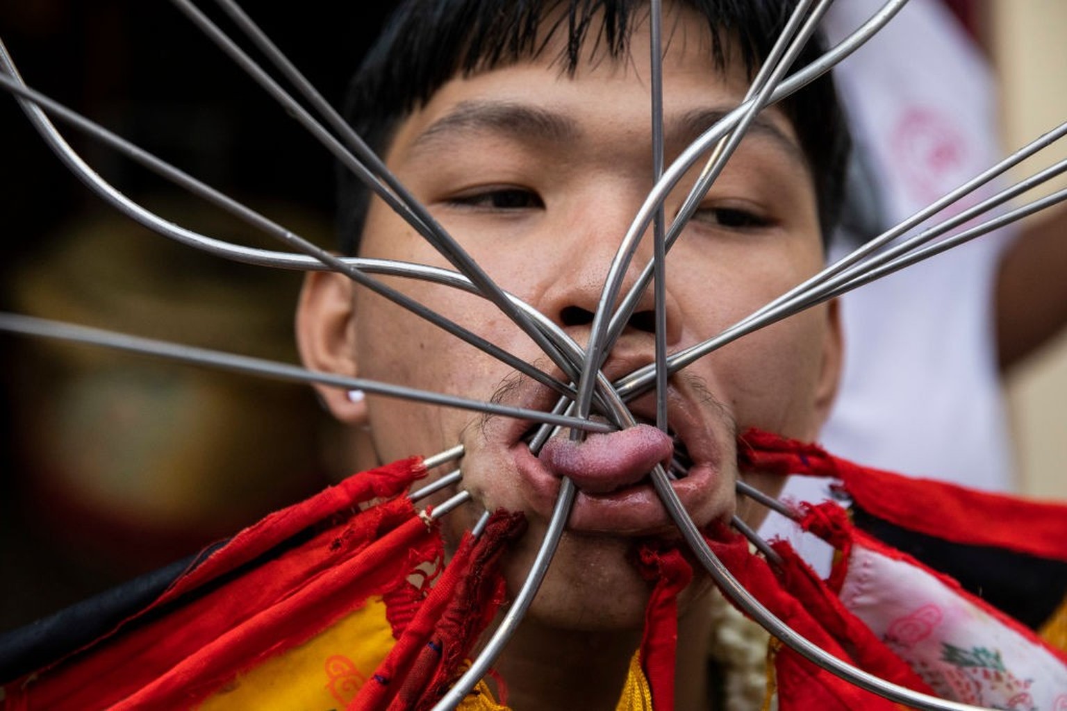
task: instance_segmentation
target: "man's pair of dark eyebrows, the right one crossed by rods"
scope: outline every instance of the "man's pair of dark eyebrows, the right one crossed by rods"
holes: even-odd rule
[[[688,145],[731,110],[692,109],[668,116],[664,130],[672,141]],[[487,131],[552,143],[575,142],[583,138],[583,130],[576,120],[555,111],[512,101],[461,101],[448,114],[430,124],[415,139],[412,147],[427,148],[455,134]],[[748,127],[748,134],[769,139],[799,166],[809,168],[808,157],[800,146],[767,116],[757,115]]]

